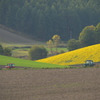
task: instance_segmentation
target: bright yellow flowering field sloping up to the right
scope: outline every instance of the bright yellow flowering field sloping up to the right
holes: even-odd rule
[[[59,65],[73,65],[82,64],[85,60],[93,60],[100,62],[100,44],[80,48],[56,56],[37,60],[37,62],[59,64]]]

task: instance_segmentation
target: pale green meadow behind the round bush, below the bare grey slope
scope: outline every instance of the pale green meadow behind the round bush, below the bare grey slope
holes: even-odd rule
[[[15,44],[15,43],[14,44],[13,43],[1,43],[1,45],[3,47],[11,48],[12,56],[18,57],[18,58],[21,56],[25,56],[28,58],[28,52],[29,52],[30,48],[33,46],[33,45],[28,45],[28,44]],[[47,49],[48,53],[51,52],[50,48],[48,48],[46,45],[43,45],[43,46]],[[64,48],[64,47],[63,48],[58,47],[57,50],[58,50],[58,52],[60,52],[62,50],[64,52],[68,51],[67,48]],[[53,47],[52,51],[55,52],[56,48]]]

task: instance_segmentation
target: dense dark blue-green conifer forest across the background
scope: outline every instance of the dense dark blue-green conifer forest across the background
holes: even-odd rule
[[[0,0],[0,24],[45,41],[77,38],[99,22],[99,0]]]

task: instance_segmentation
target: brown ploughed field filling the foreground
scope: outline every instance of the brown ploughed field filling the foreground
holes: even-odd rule
[[[100,68],[1,70],[0,100],[100,100]]]

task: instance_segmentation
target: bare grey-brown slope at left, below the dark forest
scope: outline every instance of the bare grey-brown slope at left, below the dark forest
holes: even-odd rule
[[[17,43],[17,44],[41,44],[39,41],[27,39],[20,35],[14,34],[7,30],[0,28],[0,42],[4,43]]]

